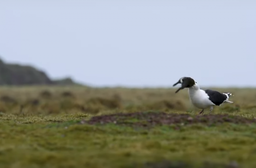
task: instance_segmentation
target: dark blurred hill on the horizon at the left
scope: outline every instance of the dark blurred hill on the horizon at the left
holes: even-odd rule
[[[0,58],[0,85],[73,85],[70,78],[50,79],[45,72],[32,66],[6,64]]]

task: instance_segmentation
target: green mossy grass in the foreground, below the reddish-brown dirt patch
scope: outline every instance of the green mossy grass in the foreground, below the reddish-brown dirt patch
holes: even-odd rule
[[[70,114],[70,118],[1,120],[0,166],[115,168],[142,167],[147,162],[153,165],[164,160],[182,161],[191,167],[231,161],[243,167],[256,166],[256,124],[136,129],[114,123],[81,124],[81,115]],[[166,163],[165,167],[170,165]]]

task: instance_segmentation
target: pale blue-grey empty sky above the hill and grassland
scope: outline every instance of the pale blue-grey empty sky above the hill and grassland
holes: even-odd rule
[[[1,0],[0,57],[95,86],[256,86],[256,0]]]

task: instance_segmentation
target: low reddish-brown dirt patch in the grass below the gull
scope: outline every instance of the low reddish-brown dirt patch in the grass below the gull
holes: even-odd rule
[[[194,124],[202,123],[205,125],[229,123],[256,123],[256,119],[245,118],[242,116],[232,116],[227,114],[216,115],[196,115],[189,114],[171,114],[165,112],[135,112],[135,113],[117,113],[111,115],[94,116],[85,121],[88,124],[107,124],[115,123],[117,125],[150,127],[155,125],[172,124]]]

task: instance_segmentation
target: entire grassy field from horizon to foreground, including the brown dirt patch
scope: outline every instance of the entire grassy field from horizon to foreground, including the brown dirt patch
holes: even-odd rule
[[[0,166],[255,168],[256,89],[214,89],[235,103],[199,116],[185,89],[1,87]]]

